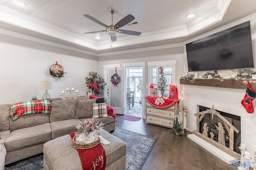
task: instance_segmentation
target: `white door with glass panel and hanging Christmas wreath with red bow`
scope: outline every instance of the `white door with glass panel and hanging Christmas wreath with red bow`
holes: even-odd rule
[[[113,84],[111,77],[117,73],[121,81]],[[121,67],[107,68],[107,104],[114,109],[114,113],[124,115],[124,69]]]

